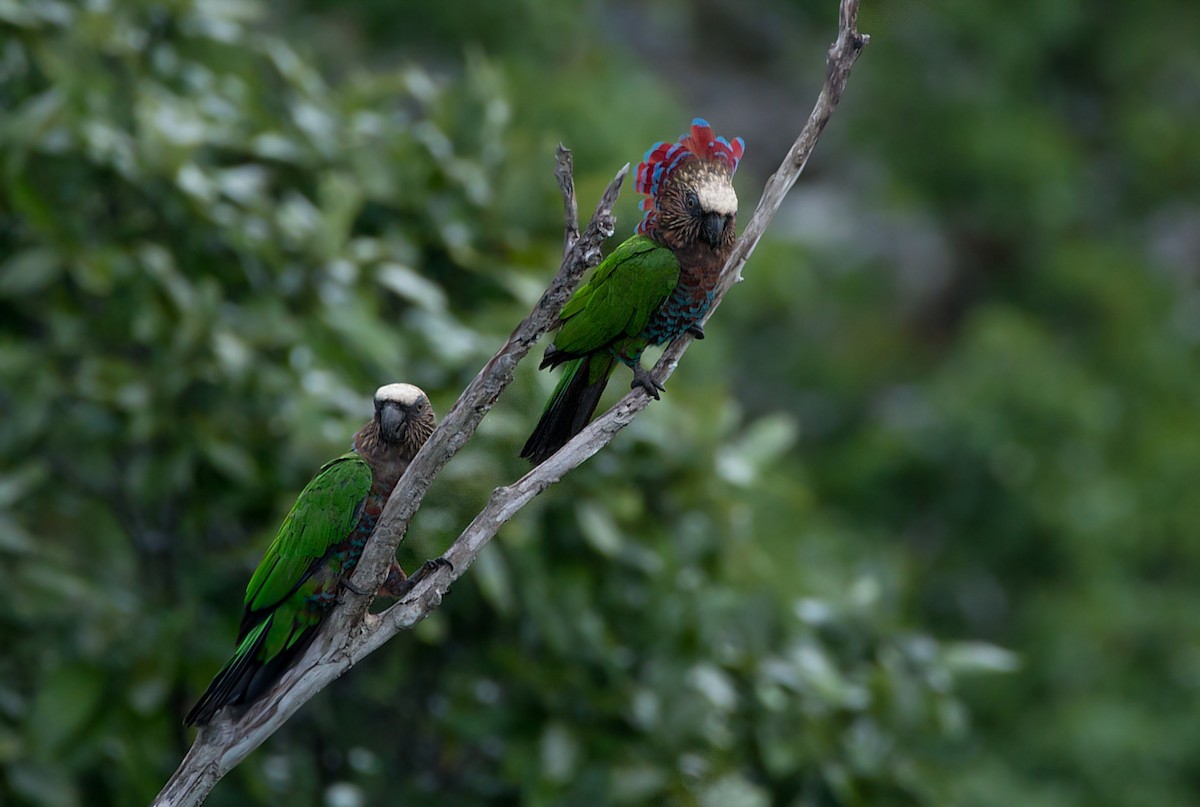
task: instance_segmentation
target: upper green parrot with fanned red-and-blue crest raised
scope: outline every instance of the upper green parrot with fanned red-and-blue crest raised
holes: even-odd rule
[[[644,193],[637,234],[604,259],[563,306],[558,335],[539,369],[565,365],[521,456],[545,461],[583,430],[617,361],[631,387],[659,397],[662,384],[642,351],[684,333],[703,339],[721,267],[733,249],[738,197],[733,172],[745,143],[718,137],[696,118],[677,143],[655,143],[637,166]]]

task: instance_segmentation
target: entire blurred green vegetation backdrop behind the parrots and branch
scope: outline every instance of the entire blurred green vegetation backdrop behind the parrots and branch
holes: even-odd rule
[[[0,2],[0,802],[148,802],[374,387],[444,412],[548,281],[553,144],[589,205],[703,115],[749,209],[834,5]],[[664,401],[209,803],[1194,803],[1200,6],[860,28]]]

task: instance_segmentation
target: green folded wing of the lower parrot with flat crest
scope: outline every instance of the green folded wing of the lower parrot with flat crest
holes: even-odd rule
[[[371,490],[371,466],[349,452],[326,462],[292,512],[246,586],[246,610],[271,608],[304,581],[312,561],[342,542]]]

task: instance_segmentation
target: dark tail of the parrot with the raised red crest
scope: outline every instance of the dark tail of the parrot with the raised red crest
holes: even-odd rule
[[[596,411],[616,363],[616,357],[607,353],[564,361],[563,377],[546,402],[541,420],[521,449],[521,456],[540,465],[583,431]]]

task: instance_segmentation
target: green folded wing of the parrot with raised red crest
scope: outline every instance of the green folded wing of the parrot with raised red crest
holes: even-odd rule
[[[679,262],[665,246],[634,235],[604,259],[563,306],[554,346],[590,353],[636,336],[679,281]]]

